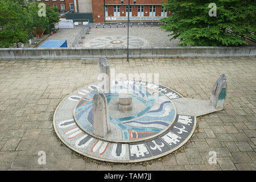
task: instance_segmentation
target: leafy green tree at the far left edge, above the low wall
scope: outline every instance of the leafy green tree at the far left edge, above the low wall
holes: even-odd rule
[[[0,0],[0,47],[28,42],[31,16],[14,0]]]

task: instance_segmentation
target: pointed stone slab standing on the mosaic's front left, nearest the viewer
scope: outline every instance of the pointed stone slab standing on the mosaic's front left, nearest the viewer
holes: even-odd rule
[[[110,131],[109,106],[101,91],[93,96],[93,134],[105,137]]]

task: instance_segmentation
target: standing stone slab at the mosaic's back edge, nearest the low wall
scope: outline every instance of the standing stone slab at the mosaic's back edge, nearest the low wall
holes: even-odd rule
[[[100,84],[98,84],[98,88],[103,90],[105,93],[110,93],[111,90],[111,81],[110,81],[110,68],[109,62],[106,57],[101,57],[98,59],[98,68],[99,68],[99,76],[98,80],[100,80]]]

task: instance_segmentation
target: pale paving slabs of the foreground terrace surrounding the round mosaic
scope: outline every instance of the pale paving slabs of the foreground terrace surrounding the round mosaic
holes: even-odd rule
[[[159,82],[209,100],[225,73],[225,109],[205,115],[180,152],[151,165],[110,166],[78,158],[55,137],[52,113],[67,94],[97,81],[97,61],[0,60],[1,170],[256,170],[255,57],[109,60],[116,73],[159,73]],[[46,164],[39,151],[46,152]],[[209,155],[209,151],[214,151]],[[208,159],[216,164],[209,164]]]

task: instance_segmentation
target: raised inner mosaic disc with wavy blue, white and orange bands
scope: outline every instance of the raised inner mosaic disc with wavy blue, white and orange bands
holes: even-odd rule
[[[96,86],[85,87],[77,92],[82,94],[74,111],[74,118],[77,124],[86,133],[93,134],[93,109],[92,99]],[[130,91],[133,95],[133,111],[119,111],[118,107],[112,107],[118,102],[118,93]],[[147,139],[160,133],[172,125],[176,117],[175,107],[170,99],[156,89],[148,88],[143,84],[126,84],[114,82],[110,93],[106,93],[110,110],[110,122],[119,128],[122,135],[110,132],[105,138],[112,138],[112,141],[132,141]],[[115,100],[113,103],[112,100]],[[117,103],[118,104],[118,103]],[[115,117],[113,117],[115,115]],[[119,116],[119,117],[118,117]],[[119,132],[118,132],[119,133]],[[111,141],[111,139],[109,139]]]

